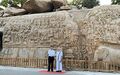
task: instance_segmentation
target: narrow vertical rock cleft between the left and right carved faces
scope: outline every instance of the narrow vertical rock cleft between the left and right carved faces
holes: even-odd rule
[[[87,13],[89,13],[91,10],[88,9],[81,9],[81,10],[70,10],[68,11],[70,13],[71,18],[73,18],[73,21],[77,23],[78,25],[78,32],[79,32],[79,38],[77,42],[77,47],[75,47],[73,55],[76,59],[85,59],[85,57],[89,57],[88,52],[91,50],[91,47],[88,46],[89,39],[86,38],[86,35],[82,33],[81,26],[84,24],[84,19]]]

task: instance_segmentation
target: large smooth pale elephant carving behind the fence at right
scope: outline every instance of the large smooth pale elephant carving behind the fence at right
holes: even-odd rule
[[[120,49],[99,46],[94,54],[95,61],[106,61],[110,64],[120,64]]]

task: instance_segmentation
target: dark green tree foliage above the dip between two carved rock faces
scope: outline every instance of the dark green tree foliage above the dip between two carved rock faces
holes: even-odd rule
[[[98,0],[83,0],[82,6],[86,8],[93,8],[94,6],[99,5]]]

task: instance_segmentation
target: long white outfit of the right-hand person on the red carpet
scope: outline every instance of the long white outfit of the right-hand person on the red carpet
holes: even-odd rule
[[[63,52],[62,50],[56,52],[56,71],[62,71],[62,57]]]

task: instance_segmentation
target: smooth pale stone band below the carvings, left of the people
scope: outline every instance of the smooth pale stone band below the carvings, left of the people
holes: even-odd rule
[[[3,48],[0,52],[2,57],[12,58],[47,58],[49,48]]]

